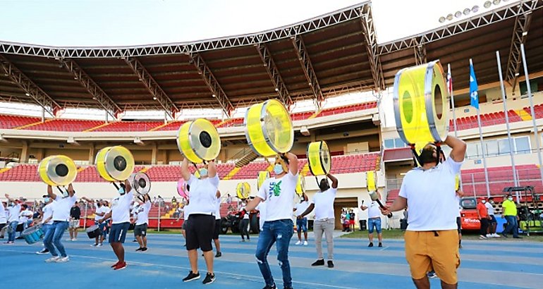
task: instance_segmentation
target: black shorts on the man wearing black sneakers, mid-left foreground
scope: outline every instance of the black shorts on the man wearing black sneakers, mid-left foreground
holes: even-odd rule
[[[203,252],[213,250],[211,241],[215,226],[215,216],[204,214],[191,214],[185,226],[187,236],[187,250],[200,248]]]

